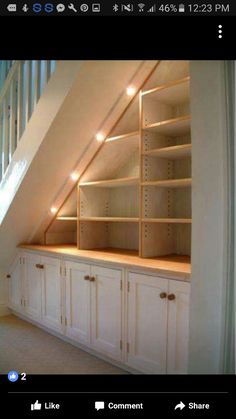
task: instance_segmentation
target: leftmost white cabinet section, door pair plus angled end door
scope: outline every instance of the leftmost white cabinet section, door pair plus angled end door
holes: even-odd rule
[[[10,271],[9,303],[12,309],[55,330],[61,329],[61,261],[22,253]]]

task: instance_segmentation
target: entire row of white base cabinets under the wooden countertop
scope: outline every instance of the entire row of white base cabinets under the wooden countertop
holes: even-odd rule
[[[140,372],[187,372],[189,283],[36,252],[9,276],[16,312]]]

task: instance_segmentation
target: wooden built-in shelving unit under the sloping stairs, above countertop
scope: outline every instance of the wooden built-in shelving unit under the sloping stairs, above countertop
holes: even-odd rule
[[[172,67],[169,80],[162,72],[159,84],[157,73],[156,85],[148,82],[147,89],[139,92],[136,108],[106,138],[80,178],[78,194],[69,198],[74,199],[73,210],[65,202],[47,231],[46,242],[57,243],[61,238],[66,243],[69,237],[81,250],[188,260],[190,78],[181,75],[182,64],[178,65],[176,79]],[[167,66],[168,62],[163,68]]]

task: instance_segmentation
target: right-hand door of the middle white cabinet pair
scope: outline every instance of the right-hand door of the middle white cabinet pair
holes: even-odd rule
[[[120,270],[91,267],[92,345],[121,359],[122,291]]]

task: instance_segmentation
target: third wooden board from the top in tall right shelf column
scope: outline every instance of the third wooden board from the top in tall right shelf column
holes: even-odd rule
[[[145,156],[161,157],[164,159],[177,160],[191,156],[192,144],[181,144],[172,147],[163,147],[145,151]]]

